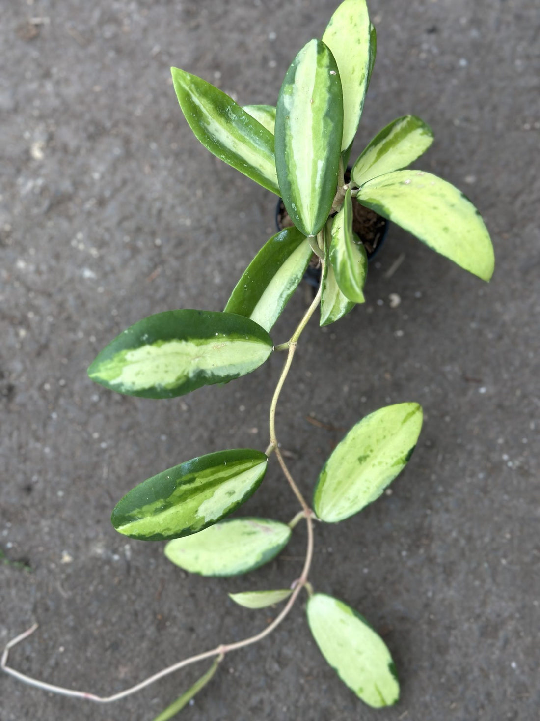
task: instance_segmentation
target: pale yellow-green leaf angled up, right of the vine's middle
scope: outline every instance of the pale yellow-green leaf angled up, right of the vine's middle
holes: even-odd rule
[[[422,428],[418,403],[386,406],[348,431],[320,472],[313,508],[336,523],[376,500],[407,464]]]

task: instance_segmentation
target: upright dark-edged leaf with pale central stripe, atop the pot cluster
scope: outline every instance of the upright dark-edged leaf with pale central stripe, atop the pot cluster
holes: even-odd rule
[[[294,225],[314,236],[330,214],[338,184],[343,97],[338,66],[310,40],[289,67],[276,107],[276,170]]]

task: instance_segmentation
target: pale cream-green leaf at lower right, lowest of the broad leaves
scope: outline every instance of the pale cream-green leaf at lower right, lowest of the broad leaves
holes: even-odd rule
[[[313,594],[306,610],[320,652],[343,684],[375,709],[395,704],[400,686],[392,656],[364,616],[325,593]]]

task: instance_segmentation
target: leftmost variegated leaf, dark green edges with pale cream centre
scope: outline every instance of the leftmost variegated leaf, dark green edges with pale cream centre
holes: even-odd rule
[[[97,355],[93,381],[130,396],[172,398],[232,381],[266,361],[266,330],[248,318],[215,311],[165,311],[135,323]]]

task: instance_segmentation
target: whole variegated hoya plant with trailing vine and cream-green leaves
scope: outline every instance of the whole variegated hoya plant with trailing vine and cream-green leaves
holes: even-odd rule
[[[255,636],[179,660],[114,696],[59,689],[32,679],[33,684],[109,702],[186,665],[212,660],[199,681],[156,719],[166,720],[210,681],[225,655],[273,632],[305,591],[307,623],[343,683],[371,707],[397,702],[397,672],[384,641],[359,611],[325,593],[324,579],[311,578],[310,567],[315,522],[343,521],[382,494],[413,454],[422,409],[418,403],[402,402],[359,420],[320,469],[310,499],[289,472],[276,433],[279,395],[307,322],[318,311],[320,325],[328,325],[364,303],[366,243],[354,231],[359,209],[410,231],[483,280],[492,275],[492,244],[476,208],[445,180],[407,169],[433,141],[420,118],[407,115],[383,128],[352,163],[346,180],[376,48],[365,0],[345,0],[323,36],[310,40],[292,61],[275,107],[240,107],[204,79],[172,68],[181,110],[195,136],[217,157],[282,198],[290,225],[261,247],[223,311],[173,309],[140,320],[109,342],[89,368],[93,381],[114,392],[172,399],[201,386],[233,381],[255,371],[272,353],[284,353],[269,404],[266,448],[228,448],[179,459],[178,465],[130,490],[112,511],[120,534],[167,541],[164,552],[172,563],[206,576],[232,577],[268,563],[302,521],[307,547],[300,575],[284,578],[281,588],[243,593],[234,593],[230,583],[230,598],[240,606],[284,604],[282,610],[271,624],[263,622],[264,630]],[[308,265],[320,270],[315,298],[288,340],[271,337]],[[238,513],[264,481],[272,456],[299,506],[289,522]],[[6,663],[9,647],[21,638],[8,646],[2,665],[29,680]]]

